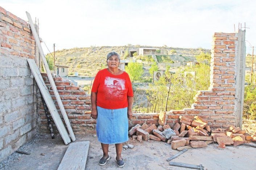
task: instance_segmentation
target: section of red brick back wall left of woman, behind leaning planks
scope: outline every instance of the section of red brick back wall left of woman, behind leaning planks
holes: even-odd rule
[[[47,74],[41,73],[41,75],[45,81],[46,86],[49,89],[51,97],[56,104],[58,112],[61,115],[61,111],[59,110],[58,103],[56,101],[56,98],[54,97],[54,93],[51,89]],[[62,79],[58,76],[53,77],[53,79],[74,133],[95,133],[96,121],[94,119],[91,119],[90,112],[88,112],[91,110],[91,97],[86,95],[83,89],[75,87],[74,84],[69,80]],[[38,107],[38,132],[49,133],[49,127],[42,102],[40,102]],[[52,119],[51,123],[53,125],[54,131],[57,132],[57,127],[55,126]]]

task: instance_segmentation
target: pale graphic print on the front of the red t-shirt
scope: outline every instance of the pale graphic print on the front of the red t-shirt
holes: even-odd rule
[[[125,97],[125,80],[106,77],[104,83],[106,100],[123,100]]]

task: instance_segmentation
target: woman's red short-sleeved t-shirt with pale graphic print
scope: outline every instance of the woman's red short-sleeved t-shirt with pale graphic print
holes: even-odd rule
[[[133,97],[129,75],[112,75],[107,68],[97,73],[91,91],[97,93],[97,106],[105,109],[128,107],[127,96]]]

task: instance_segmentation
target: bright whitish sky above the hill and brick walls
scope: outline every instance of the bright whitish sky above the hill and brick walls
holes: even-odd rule
[[[215,32],[233,33],[244,22],[256,46],[254,0],[1,0],[1,7],[39,20],[49,50],[127,44],[211,49]],[[247,53],[252,53],[246,42]],[[42,47],[48,54],[44,43]]]

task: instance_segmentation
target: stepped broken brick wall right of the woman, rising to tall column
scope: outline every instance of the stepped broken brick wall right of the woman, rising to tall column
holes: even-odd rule
[[[167,112],[167,123],[172,127],[179,122],[179,115],[193,118],[200,115],[213,128],[230,127],[236,123],[235,78],[238,34],[215,33],[212,42],[211,75],[209,90],[199,91],[189,109]],[[130,126],[158,123],[158,114],[134,114]]]

